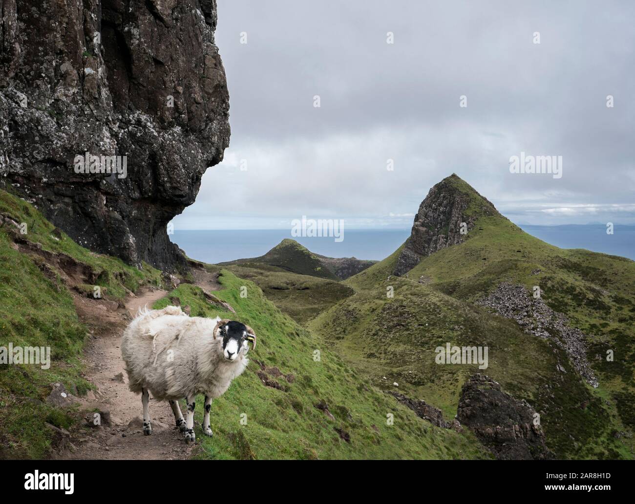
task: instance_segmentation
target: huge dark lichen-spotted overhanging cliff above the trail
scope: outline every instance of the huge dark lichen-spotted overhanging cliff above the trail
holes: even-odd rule
[[[85,247],[185,265],[166,225],[229,144],[216,23],[215,0],[0,0],[1,184]]]

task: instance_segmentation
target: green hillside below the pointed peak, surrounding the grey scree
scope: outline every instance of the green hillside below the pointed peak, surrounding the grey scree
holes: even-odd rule
[[[460,179],[458,184],[474,200],[468,214],[482,206],[471,187]],[[399,252],[346,280],[356,294],[309,328],[336,344],[378,385],[398,381],[400,389],[441,407],[448,418],[456,412],[464,379],[477,369],[436,365],[434,348],[446,342],[487,345],[486,374],[540,412],[547,442],[558,456],[633,457],[632,438],[617,440],[615,433],[633,428],[635,263],[560,250],[498,215],[480,217],[465,243],[432,254],[410,271],[410,279],[423,277],[426,285],[394,276],[387,281]],[[532,275],[534,269],[542,271]],[[598,390],[582,383],[568,364],[566,374],[556,372],[556,357],[566,362],[562,351],[471,303],[502,280],[540,285],[554,310],[592,335],[589,358],[599,371]],[[389,285],[392,299],[386,295]],[[613,363],[595,358],[607,347],[615,350]]]

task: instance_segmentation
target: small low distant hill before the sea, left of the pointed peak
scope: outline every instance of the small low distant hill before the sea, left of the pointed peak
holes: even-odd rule
[[[369,268],[377,261],[366,261],[356,257],[326,257],[314,254],[311,250],[290,238],[284,240],[267,254],[250,259],[236,259],[236,261],[220,264],[268,264],[277,268],[298,273],[300,275],[318,276],[330,280],[345,280],[360,271]]]

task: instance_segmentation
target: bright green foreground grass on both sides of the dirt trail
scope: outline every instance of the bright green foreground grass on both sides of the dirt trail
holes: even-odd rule
[[[0,212],[17,222],[27,222],[23,238],[41,243],[43,249],[64,253],[93,268],[107,292],[117,299],[126,288],[159,282],[159,271],[130,268],[112,257],[93,254],[62,235],[55,239],[53,226],[28,203],[0,192]],[[76,411],[46,404],[49,384],[62,382],[80,395],[89,383],[81,378],[81,351],[86,327],[74,310],[72,296],[57,277],[44,275],[41,262],[14,250],[6,228],[0,227],[0,346],[51,346],[49,370],[35,365],[0,367],[0,458],[41,458],[51,442],[44,421],[68,427]],[[248,280],[223,271],[225,289],[218,296],[237,311],[258,332],[258,348],[251,357],[293,373],[295,381],[285,383],[288,392],[262,385],[255,374],[257,363],[232,384],[224,397],[213,404],[213,439],[199,435],[199,458],[488,458],[474,436],[439,429],[417,418],[366,382],[324,343],[315,339],[268,301]],[[240,297],[240,287],[248,297]],[[181,285],[170,294],[189,304],[192,315],[227,316],[208,304],[200,289]],[[157,306],[168,303],[167,298]],[[234,316],[232,316],[234,318]],[[313,360],[321,351],[320,362]],[[284,378],[282,378],[284,383]],[[325,400],[335,420],[314,407]],[[241,414],[247,425],[241,425]],[[387,425],[386,414],[394,414]],[[201,413],[198,421],[201,420]],[[373,427],[377,428],[377,430]],[[340,439],[334,427],[351,434],[351,443]],[[204,438],[204,439],[201,439]]]

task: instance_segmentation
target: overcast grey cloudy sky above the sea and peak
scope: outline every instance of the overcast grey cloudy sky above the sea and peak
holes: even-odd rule
[[[518,224],[635,224],[634,27],[631,1],[218,0],[231,144],[175,228],[410,228],[453,172]]]

